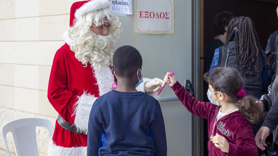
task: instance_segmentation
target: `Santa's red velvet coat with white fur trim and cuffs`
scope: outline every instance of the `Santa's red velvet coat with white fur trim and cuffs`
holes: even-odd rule
[[[74,54],[68,44],[64,44],[56,52],[47,96],[66,122],[75,124],[80,131],[86,131],[92,104],[98,97],[110,91],[116,79],[111,67],[102,65],[100,70],[94,71],[89,63],[84,67]],[[136,89],[144,91],[144,84],[150,80],[144,78],[144,82]],[[85,156],[87,135],[72,133],[61,127],[56,120],[48,148],[49,156]]]

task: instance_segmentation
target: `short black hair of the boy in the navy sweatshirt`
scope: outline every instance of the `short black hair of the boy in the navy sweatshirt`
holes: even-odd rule
[[[131,78],[142,69],[142,57],[136,48],[121,46],[114,52],[113,67],[117,76]]]

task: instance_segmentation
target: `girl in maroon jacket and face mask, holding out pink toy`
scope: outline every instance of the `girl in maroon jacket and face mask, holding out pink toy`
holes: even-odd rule
[[[170,73],[165,75],[175,94],[193,115],[208,120],[209,156],[258,156],[252,123],[258,122],[261,107],[246,96],[239,72],[229,67],[215,67],[204,79],[209,83],[210,102],[194,99]]]

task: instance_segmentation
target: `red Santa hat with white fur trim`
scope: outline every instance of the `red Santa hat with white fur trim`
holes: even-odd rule
[[[104,9],[110,7],[108,0],[90,0],[90,1],[78,1],[72,4],[70,13],[70,27],[73,26],[73,21],[88,12]]]

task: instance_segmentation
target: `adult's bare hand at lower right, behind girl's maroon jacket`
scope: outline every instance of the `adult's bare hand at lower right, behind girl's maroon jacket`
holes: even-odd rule
[[[266,148],[266,137],[269,135],[269,128],[266,126],[263,126],[259,129],[258,133],[255,136],[255,141],[257,147],[259,147],[261,150],[265,150]]]

